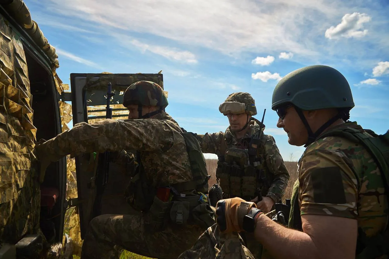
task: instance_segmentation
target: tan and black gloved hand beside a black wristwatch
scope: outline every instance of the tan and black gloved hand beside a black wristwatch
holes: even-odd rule
[[[243,218],[251,208],[256,208],[254,202],[245,201],[235,197],[220,200],[216,204],[216,223],[221,233],[241,232],[243,230]]]

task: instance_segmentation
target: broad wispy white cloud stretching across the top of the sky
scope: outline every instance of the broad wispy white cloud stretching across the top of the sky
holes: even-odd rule
[[[216,49],[224,54],[242,51],[283,51],[318,54],[308,47],[308,39],[301,41],[302,28],[307,22],[321,26],[317,19],[335,18],[342,8],[326,0],[313,3],[306,0],[219,0],[170,1],[112,0],[46,0],[44,8],[63,16],[73,16],[102,25],[105,32],[121,30],[147,33],[161,40],[175,40],[180,44]],[[47,2],[49,4],[47,4]],[[158,8],[155,6],[158,5]],[[141,12],[128,12],[136,6]],[[204,11],[209,10],[209,11]],[[303,18],[304,17],[304,18]],[[254,25],[254,26],[253,26]],[[258,26],[260,25],[260,26]],[[225,32],[228,33],[225,33]],[[319,36],[319,30],[312,30]],[[132,34],[132,35],[134,35]],[[158,44],[159,45],[159,44]]]

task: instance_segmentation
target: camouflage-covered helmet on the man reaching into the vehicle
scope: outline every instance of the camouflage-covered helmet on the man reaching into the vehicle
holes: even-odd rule
[[[129,86],[124,92],[123,106],[128,105],[168,106],[168,100],[162,87],[151,81],[138,81]]]

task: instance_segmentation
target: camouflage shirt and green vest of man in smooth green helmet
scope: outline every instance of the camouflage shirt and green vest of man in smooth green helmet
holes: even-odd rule
[[[304,214],[357,219],[356,258],[387,258],[380,256],[389,252],[388,140],[389,131],[378,136],[345,122],[308,145],[298,162],[289,227],[301,229]]]

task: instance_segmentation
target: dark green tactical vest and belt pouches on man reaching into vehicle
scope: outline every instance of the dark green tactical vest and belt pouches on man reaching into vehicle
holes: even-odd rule
[[[150,212],[154,223],[163,225],[166,215],[170,214],[170,219],[173,223],[186,224],[189,216],[191,216],[190,219],[194,220],[196,224],[202,225],[205,222],[203,227],[212,226],[214,224],[214,210],[210,208],[209,201],[205,195],[208,193],[210,176],[207,172],[200,144],[194,133],[178,128],[173,123],[169,123],[169,125],[179,131],[182,137],[184,137],[193,181],[159,186],[157,188],[152,187],[151,183],[147,182],[142,163],[138,163],[138,172],[131,179],[130,186],[126,191],[127,201],[135,210]],[[166,201],[161,201],[157,198],[158,191],[161,189],[167,191],[168,199]],[[185,196],[181,194],[193,190],[198,195]],[[199,217],[202,217],[202,219],[198,219]],[[156,227],[153,228],[153,230],[156,230]]]

